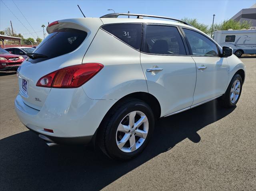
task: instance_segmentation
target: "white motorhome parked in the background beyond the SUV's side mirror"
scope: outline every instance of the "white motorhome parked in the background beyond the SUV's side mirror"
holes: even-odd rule
[[[255,27],[251,27],[249,30],[215,31],[213,39],[221,47],[231,47],[237,57],[241,57],[243,54],[256,54]]]

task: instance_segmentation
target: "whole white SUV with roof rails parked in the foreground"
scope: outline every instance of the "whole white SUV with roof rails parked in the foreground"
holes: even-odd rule
[[[164,18],[108,14],[49,24],[18,69],[21,122],[48,145],[92,141],[125,160],[142,152],[160,117],[218,97],[236,105],[245,66],[231,48],[183,21],[143,17]]]

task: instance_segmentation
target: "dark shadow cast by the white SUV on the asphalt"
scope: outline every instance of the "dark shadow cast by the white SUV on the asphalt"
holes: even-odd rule
[[[213,100],[161,118],[144,152],[127,162],[113,161],[98,149],[85,146],[48,147],[30,131],[9,136],[0,140],[0,189],[100,190],[186,138],[200,142],[198,130],[234,109],[221,108]]]

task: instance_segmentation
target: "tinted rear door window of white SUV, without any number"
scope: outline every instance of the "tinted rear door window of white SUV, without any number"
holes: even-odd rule
[[[183,41],[176,27],[148,25],[145,52],[152,54],[186,55]]]

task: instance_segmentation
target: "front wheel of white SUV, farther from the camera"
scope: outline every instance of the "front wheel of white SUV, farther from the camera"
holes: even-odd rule
[[[222,95],[218,100],[224,107],[234,107],[238,102],[242,93],[242,77],[239,74],[234,75],[230,81],[226,93]]]

